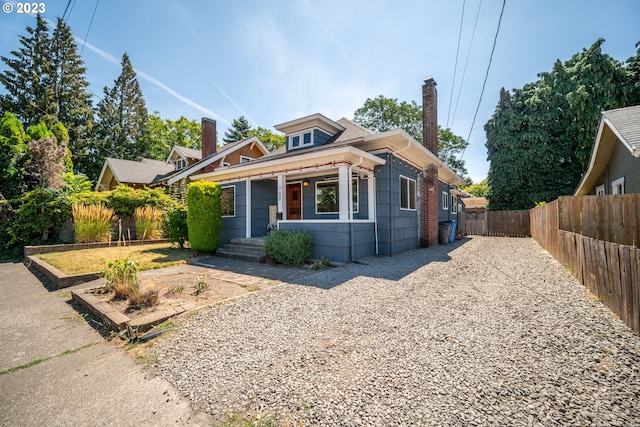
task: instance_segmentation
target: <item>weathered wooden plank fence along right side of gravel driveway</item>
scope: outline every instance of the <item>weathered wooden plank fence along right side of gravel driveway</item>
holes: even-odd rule
[[[561,197],[531,210],[531,235],[640,335],[640,195]]]

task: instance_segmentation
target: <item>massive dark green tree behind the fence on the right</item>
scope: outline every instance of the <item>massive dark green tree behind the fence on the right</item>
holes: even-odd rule
[[[631,98],[627,73],[602,53],[603,42],[556,61],[522,89],[502,89],[485,124],[490,209],[529,209],[573,194],[601,112],[629,105]]]

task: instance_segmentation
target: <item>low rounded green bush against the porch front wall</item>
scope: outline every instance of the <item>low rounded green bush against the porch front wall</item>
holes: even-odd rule
[[[313,237],[306,230],[274,230],[264,239],[266,254],[286,265],[301,265],[312,248]]]

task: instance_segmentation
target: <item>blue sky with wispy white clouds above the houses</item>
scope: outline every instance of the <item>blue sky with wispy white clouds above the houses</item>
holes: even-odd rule
[[[2,56],[35,25],[8,3],[13,11],[0,14]],[[55,22],[67,4],[45,0],[44,17]],[[501,87],[535,81],[600,37],[619,61],[640,41],[637,0],[507,0],[470,133],[501,7],[501,0],[71,0],[67,22],[94,102],[113,85],[126,51],[149,112],[214,118],[220,136],[241,115],[273,130],[317,112],[353,118],[378,95],[419,103],[423,80],[433,77],[440,125],[471,135],[464,159],[477,182],[489,168],[483,126]]]

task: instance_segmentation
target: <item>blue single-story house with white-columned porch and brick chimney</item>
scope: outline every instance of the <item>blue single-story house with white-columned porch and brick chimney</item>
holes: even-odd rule
[[[400,129],[373,133],[313,114],[275,126],[286,136],[281,149],[244,163],[210,160],[213,170],[203,158],[193,166],[201,173],[186,170],[169,182],[189,177],[222,186],[221,244],[277,226],[308,230],[313,258],[341,262],[435,245],[438,222],[461,206],[451,190],[464,184],[437,156],[435,85],[428,79],[422,89],[424,145]]]

